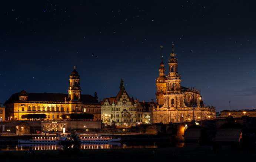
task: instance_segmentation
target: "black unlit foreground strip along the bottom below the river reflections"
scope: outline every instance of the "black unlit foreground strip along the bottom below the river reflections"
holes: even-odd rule
[[[131,148],[131,149],[94,149],[94,150],[53,150],[34,151],[26,155],[24,151],[0,151],[1,162],[49,162],[49,161],[206,161],[233,162],[254,161],[255,149],[245,148]]]

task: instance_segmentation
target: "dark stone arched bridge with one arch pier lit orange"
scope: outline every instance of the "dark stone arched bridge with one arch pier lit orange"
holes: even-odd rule
[[[177,140],[237,141],[256,139],[256,117],[215,118],[171,124],[145,124],[132,128],[105,129],[99,132],[118,134],[169,134]]]

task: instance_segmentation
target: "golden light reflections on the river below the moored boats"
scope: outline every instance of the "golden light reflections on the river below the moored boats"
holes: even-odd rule
[[[184,142],[176,144],[157,143],[157,142],[109,142],[109,143],[84,143],[79,145],[79,149],[119,149],[119,148],[157,148],[157,147],[184,147]],[[0,145],[0,150],[9,151],[39,151],[39,150],[63,150],[60,144],[19,144],[19,145]]]

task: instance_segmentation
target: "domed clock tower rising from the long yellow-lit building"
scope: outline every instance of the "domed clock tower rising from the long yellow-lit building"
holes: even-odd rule
[[[69,101],[80,101],[81,88],[80,88],[80,76],[76,71],[76,66],[69,76]]]

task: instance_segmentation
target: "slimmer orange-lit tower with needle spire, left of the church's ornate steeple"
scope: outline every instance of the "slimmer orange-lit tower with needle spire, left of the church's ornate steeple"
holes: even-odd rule
[[[163,46],[161,48],[161,63],[159,68],[159,77],[156,79],[156,101],[160,107],[164,104],[164,93],[166,92],[166,76],[163,63]]]

